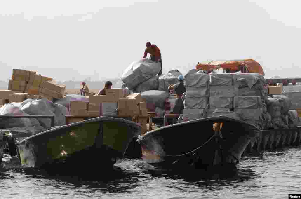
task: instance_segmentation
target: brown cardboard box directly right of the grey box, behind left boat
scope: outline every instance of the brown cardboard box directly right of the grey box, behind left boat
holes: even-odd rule
[[[135,116],[139,115],[139,105],[136,98],[122,98],[118,100],[118,115]]]

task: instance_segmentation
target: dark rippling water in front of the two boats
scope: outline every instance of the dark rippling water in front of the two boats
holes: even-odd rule
[[[12,159],[0,173],[0,198],[288,198],[301,194],[300,160],[301,146],[244,156],[232,170],[173,172],[125,159],[92,175],[24,168]]]

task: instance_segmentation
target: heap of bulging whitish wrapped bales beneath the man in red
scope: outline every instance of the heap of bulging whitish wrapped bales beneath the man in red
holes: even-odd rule
[[[141,97],[147,102],[148,111],[156,112],[157,116],[163,117],[165,102],[170,96],[168,87],[178,83],[178,76],[182,73],[178,70],[171,70],[167,74],[158,76],[160,70],[160,63],[143,58],[126,68],[122,81],[133,93],[141,93]]]

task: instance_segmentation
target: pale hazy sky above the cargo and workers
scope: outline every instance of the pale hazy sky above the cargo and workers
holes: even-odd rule
[[[163,73],[253,58],[265,77],[300,77],[299,1],[1,1],[0,79],[24,68],[57,80],[121,77],[162,53]],[[297,10],[298,9],[298,10]]]

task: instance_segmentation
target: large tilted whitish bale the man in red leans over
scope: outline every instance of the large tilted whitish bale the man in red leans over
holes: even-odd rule
[[[132,62],[123,72],[121,80],[129,89],[135,89],[139,84],[157,75],[161,71],[161,67],[160,62],[143,58]]]

